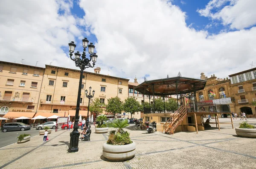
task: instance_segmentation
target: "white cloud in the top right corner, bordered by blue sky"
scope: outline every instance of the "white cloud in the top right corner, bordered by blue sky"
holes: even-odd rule
[[[230,5],[224,6],[225,3]],[[221,20],[231,29],[244,29],[256,24],[256,0],[211,0],[198,13],[212,20]]]

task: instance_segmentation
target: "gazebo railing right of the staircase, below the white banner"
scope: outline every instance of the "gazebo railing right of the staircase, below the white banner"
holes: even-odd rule
[[[230,106],[226,104],[189,103],[186,107],[188,112],[230,112]]]

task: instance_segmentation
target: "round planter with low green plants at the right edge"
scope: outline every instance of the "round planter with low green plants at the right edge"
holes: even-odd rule
[[[256,129],[255,126],[250,125],[247,121],[239,123],[239,128],[236,128],[236,134],[244,137],[256,138]]]

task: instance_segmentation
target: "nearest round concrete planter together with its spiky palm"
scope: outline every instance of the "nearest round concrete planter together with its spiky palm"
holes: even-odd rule
[[[134,158],[136,144],[131,141],[130,133],[123,130],[129,126],[128,120],[116,119],[108,123],[108,126],[116,130],[110,132],[107,143],[103,144],[103,156],[110,161],[125,161]]]

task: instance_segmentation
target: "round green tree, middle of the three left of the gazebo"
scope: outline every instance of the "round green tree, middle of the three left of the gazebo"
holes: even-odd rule
[[[119,97],[112,97],[108,99],[108,105],[106,106],[106,112],[113,113],[114,117],[116,113],[121,113],[123,110],[122,102]]]

